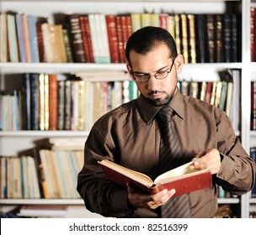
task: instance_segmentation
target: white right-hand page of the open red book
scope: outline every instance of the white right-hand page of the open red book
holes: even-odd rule
[[[191,170],[189,168],[190,164],[193,164],[193,162],[190,161],[190,162],[188,162],[186,164],[183,164],[183,165],[181,165],[181,166],[179,166],[179,167],[177,167],[173,170],[169,170],[169,171],[163,173],[162,175],[157,176],[157,178],[154,180],[154,183],[157,184],[162,180],[172,179],[173,177],[178,177],[178,176],[181,176],[181,175],[186,175],[186,174],[197,171],[197,170]]]

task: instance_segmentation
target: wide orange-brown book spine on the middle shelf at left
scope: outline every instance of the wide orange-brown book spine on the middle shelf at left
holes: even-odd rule
[[[49,74],[49,130],[57,129],[58,81],[56,74]]]

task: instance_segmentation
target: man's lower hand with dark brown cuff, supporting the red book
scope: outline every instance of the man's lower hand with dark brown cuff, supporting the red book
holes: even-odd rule
[[[157,191],[156,194],[149,195],[133,185],[132,183],[127,184],[128,190],[128,201],[130,205],[135,208],[147,208],[157,209],[158,206],[163,206],[168,199],[174,195],[175,190],[163,190]]]

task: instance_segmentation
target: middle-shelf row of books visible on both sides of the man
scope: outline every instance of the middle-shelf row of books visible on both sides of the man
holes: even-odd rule
[[[184,95],[227,112],[239,130],[239,71],[223,73],[220,81],[179,81],[178,86]],[[123,71],[83,72],[66,80],[58,76],[25,73],[20,91],[0,95],[0,129],[89,131],[106,112],[139,96],[136,83]],[[126,80],[102,81],[103,76]]]

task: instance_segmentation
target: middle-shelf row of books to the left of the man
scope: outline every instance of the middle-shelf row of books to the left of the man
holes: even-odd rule
[[[125,76],[126,74],[122,72]],[[138,97],[134,81],[60,80],[26,73],[23,86],[0,95],[2,130],[89,130],[104,113]]]

